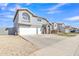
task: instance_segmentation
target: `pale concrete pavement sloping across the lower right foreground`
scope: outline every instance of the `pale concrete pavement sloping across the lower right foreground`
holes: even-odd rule
[[[40,49],[31,55],[34,56],[77,56],[79,55],[79,35],[69,37],[54,45]]]

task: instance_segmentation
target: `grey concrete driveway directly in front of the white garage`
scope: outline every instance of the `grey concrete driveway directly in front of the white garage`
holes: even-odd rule
[[[22,37],[25,40],[28,40],[33,44],[37,45],[39,48],[48,47],[67,38],[55,34],[31,35],[31,36],[22,36]]]

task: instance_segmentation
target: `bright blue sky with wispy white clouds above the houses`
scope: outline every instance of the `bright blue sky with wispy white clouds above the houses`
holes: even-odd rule
[[[49,22],[79,27],[79,3],[0,3],[0,27],[13,27],[17,9],[29,9]]]

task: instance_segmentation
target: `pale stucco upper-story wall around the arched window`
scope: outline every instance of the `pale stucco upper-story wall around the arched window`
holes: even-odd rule
[[[27,13],[30,16],[30,22],[24,21],[22,18],[22,13]],[[38,17],[32,16],[29,12],[27,11],[20,11],[19,12],[19,22],[18,23],[23,23],[23,24],[33,24],[33,25],[42,25],[42,24],[47,24],[48,22],[46,20],[41,19],[41,21],[38,21]]]

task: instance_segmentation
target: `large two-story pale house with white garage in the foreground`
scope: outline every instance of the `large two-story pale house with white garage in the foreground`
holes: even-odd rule
[[[49,22],[27,9],[18,9],[14,16],[14,31],[19,35],[47,34]]]

